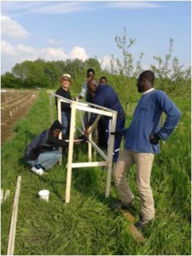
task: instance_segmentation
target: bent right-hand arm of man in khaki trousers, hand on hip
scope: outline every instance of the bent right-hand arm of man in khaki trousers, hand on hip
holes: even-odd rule
[[[173,103],[173,101],[171,101],[163,91],[161,91],[157,97],[157,105],[159,105],[161,110],[167,115],[161,129],[159,129],[157,133],[153,134],[158,143],[159,139],[163,139],[163,141],[165,141],[171,133],[173,133],[173,130],[181,117],[181,112],[176,107],[175,103]]]

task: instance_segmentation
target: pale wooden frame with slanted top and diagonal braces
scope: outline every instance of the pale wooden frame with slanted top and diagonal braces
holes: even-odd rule
[[[55,93],[50,93],[49,103],[50,103],[50,113],[51,113],[51,123],[53,123],[53,105],[51,97],[57,97],[57,118],[61,122],[61,102],[69,103],[71,105],[71,124],[69,131],[69,149],[68,149],[68,162],[67,162],[67,184],[66,184],[66,193],[65,193],[65,203],[69,203],[70,201],[70,191],[71,191],[71,175],[72,168],[82,168],[82,167],[98,167],[98,166],[107,166],[107,181],[106,181],[106,190],[105,197],[109,197],[110,187],[111,187],[111,171],[113,165],[113,146],[115,136],[111,135],[109,138],[109,150],[107,155],[94,143],[92,140],[91,134],[93,129],[97,126],[97,123],[102,115],[111,117],[111,132],[115,131],[116,121],[117,121],[117,111],[112,109],[107,109],[106,107],[101,107],[99,105],[95,105],[93,103],[88,103],[86,101],[72,101],[61,97],[60,95],[56,95]],[[81,123],[83,127],[83,131],[81,128],[75,125],[75,113],[79,111],[79,115],[81,118]],[[85,163],[73,163],[73,141],[74,141],[74,132],[75,128],[78,129],[81,134],[84,134],[85,126],[83,123],[83,118],[81,115],[81,111],[87,111],[88,113],[96,113],[97,119],[95,119],[93,125],[89,128],[89,137],[88,137],[88,159],[89,162]],[[62,139],[62,134],[59,134],[59,139]],[[93,162],[92,161],[92,147],[103,157],[104,161]],[[60,161],[61,164],[61,161]]]

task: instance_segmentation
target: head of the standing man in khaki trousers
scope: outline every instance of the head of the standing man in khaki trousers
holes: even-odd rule
[[[152,71],[146,70],[141,73],[137,79],[137,90],[139,93],[144,93],[145,91],[153,88],[155,80],[155,75]]]

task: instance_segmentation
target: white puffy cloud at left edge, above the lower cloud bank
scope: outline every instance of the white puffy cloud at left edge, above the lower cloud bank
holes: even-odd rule
[[[3,15],[1,15],[1,34],[18,39],[25,39],[30,35],[17,21]]]

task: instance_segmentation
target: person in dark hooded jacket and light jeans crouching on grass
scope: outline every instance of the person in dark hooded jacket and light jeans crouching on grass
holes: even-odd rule
[[[69,142],[65,139],[58,139],[62,125],[56,120],[49,130],[43,131],[31,141],[25,150],[25,161],[32,166],[31,171],[38,175],[43,175],[45,171],[51,169],[61,157],[62,152],[59,147],[65,149]]]

